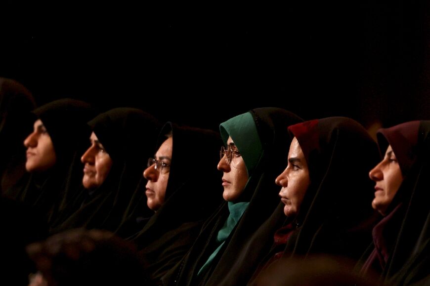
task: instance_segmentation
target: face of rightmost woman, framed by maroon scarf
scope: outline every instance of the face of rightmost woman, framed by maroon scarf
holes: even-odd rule
[[[372,207],[385,215],[403,181],[400,165],[391,145],[388,145],[384,159],[370,170],[369,177],[376,182]]]

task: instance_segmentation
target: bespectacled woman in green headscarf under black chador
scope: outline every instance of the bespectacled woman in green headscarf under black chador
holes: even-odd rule
[[[292,139],[287,126],[301,121],[280,108],[257,108],[220,124],[225,147],[218,169],[223,171],[225,202],[205,223],[187,256],[163,278],[165,284],[241,285],[237,275],[226,274],[246,276],[264,252],[260,248],[266,245],[245,245],[279,203],[273,180],[284,167]],[[249,256],[238,265],[241,251]]]

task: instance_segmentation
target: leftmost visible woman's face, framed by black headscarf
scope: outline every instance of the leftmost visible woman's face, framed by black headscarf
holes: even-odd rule
[[[52,167],[57,158],[54,145],[40,119],[33,125],[33,132],[24,140],[27,147],[25,168],[29,172],[42,172]]]

